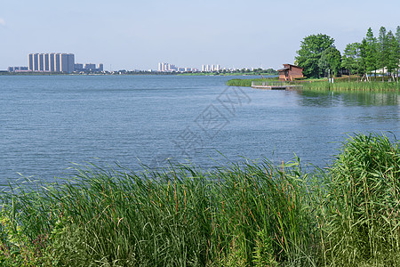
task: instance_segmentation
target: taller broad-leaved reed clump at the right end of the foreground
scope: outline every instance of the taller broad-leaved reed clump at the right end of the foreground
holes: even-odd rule
[[[356,135],[342,147],[330,175],[328,252],[333,263],[398,265],[398,143],[392,144],[385,136]]]

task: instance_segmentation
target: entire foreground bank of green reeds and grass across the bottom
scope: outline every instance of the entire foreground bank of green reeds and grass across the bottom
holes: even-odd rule
[[[298,158],[133,173],[89,166],[1,196],[2,266],[396,266],[400,150],[356,135]]]

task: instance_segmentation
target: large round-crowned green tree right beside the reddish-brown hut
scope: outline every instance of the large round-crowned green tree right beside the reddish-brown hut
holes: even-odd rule
[[[297,64],[303,68],[306,77],[321,77],[321,69],[318,66],[321,55],[325,49],[332,47],[334,39],[331,36],[318,34],[306,36],[300,44],[300,50],[295,57]]]

